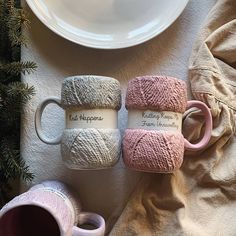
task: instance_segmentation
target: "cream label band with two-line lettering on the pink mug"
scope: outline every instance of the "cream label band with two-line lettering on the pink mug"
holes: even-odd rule
[[[129,110],[128,129],[179,131],[182,113],[172,111]]]

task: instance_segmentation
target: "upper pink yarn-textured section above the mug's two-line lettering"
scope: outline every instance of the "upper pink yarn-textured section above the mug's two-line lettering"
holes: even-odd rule
[[[127,109],[150,109],[183,113],[187,105],[184,81],[170,76],[140,76],[128,84]]]

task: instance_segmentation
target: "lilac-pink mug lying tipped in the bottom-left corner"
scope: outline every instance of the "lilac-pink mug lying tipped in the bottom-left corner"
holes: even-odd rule
[[[82,229],[77,225],[93,225]],[[102,236],[104,219],[82,212],[73,192],[58,181],[45,181],[15,197],[0,211],[4,236]]]

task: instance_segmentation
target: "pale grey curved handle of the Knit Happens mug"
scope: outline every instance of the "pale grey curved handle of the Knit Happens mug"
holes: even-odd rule
[[[59,137],[56,137],[56,138],[48,138],[44,134],[43,129],[42,129],[42,122],[41,122],[42,114],[43,114],[43,111],[44,111],[45,107],[50,103],[55,103],[59,107],[61,107],[61,100],[57,97],[48,97],[44,101],[42,101],[38,105],[38,107],[36,109],[36,112],[35,112],[35,130],[36,130],[36,133],[37,133],[39,139],[41,141],[43,141],[44,143],[59,144],[61,142],[62,135],[59,136]]]

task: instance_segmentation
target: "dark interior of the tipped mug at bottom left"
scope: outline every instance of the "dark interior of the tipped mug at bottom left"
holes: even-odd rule
[[[0,218],[0,235],[60,236],[60,228],[47,210],[39,206],[24,205],[9,210]]]

